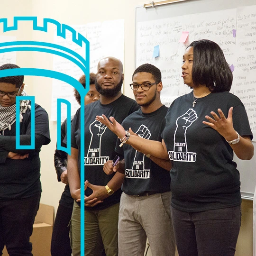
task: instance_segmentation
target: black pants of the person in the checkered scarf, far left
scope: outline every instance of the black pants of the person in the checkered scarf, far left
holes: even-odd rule
[[[0,252],[9,256],[33,256],[29,238],[39,208],[41,193],[23,199],[0,200]]]

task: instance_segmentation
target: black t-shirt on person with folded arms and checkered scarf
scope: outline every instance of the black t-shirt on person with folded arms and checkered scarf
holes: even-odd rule
[[[29,109],[22,114],[23,120],[19,123],[21,136],[31,135],[30,114],[31,111]],[[46,138],[43,145],[50,143],[48,114],[46,110],[37,104],[35,104],[35,134],[43,135]],[[13,141],[13,136],[16,136],[16,122],[11,126],[11,130],[6,129],[1,132],[1,135],[8,136],[10,141]],[[41,146],[39,145],[35,150],[27,150],[29,156],[23,160],[1,159],[0,200],[27,198],[42,191],[39,159]],[[8,148],[5,148],[5,150],[6,152],[11,151]],[[22,152],[25,153],[24,150]]]

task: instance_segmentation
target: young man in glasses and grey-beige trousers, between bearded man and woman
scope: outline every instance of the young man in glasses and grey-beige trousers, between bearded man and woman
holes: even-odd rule
[[[130,134],[162,141],[168,108],[160,100],[161,72],[154,65],[143,64],[133,73],[132,81],[130,86],[141,108],[122,122],[126,136],[121,143],[118,141],[116,152],[124,155],[124,165],[121,161],[114,169],[112,161],[108,161],[103,169],[106,174],[114,170],[125,173],[119,210],[119,256],[143,256],[146,238],[153,256],[174,256],[168,172],[171,163],[126,144]],[[111,129],[107,117],[102,117],[97,120]]]

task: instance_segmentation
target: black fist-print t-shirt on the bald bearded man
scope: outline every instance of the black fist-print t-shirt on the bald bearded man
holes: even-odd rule
[[[121,123],[129,114],[138,109],[136,101],[121,95],[116,101],[103,105],[95,101],[84,107],[84,180],[93,185],[105,186],[113,175],[103,172],[103,165],[112,160],[115,153],[117,136],[106,126],[95,120],[97,115],[114,117]],[[65,142],[65,140],[64,140]],[[74,116],[71,129],[71,146],[79,150],[78,165],[80,168],[80,109]],[[85,195],[91,194],[91,189],[85,191]],[[121,190],[116,191],[110,197],[95,207],[85,207],[86,210],[102,210],[120,201]]]

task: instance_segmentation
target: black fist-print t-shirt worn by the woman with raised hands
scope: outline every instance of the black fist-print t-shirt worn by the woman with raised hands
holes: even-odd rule
[[[202,123],[221,109],[240,136],[251,136],[247,113],[237,96],[226,92],[199,98],[193,92],[176,99],[166,115],[163,138],[172,161],[172,206],[183,211],[232,207],[241,203],[240,181],[233,150],[216,130]]]

